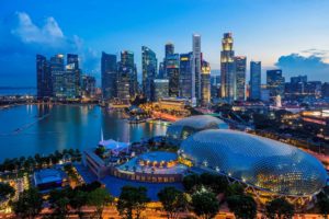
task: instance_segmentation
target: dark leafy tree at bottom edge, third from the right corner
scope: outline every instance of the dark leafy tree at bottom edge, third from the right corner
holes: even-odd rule
[[[237,219],[253,219],[257,216],[257,204],[251,196],[230,196],[227,198],[227,205]]]

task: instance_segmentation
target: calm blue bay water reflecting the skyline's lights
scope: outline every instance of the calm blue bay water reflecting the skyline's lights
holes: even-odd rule
[[[117,112],[99,106],[23,105],[0,110],[0,161],[50,153],[66,148],[94,147],[101,139],[139,141],[166,134],[166,126],[129,125]]]

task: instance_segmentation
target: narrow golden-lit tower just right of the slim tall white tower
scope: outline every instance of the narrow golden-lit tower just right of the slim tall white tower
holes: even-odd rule
[[[211,65],[203,60],[201,68],[201,104],[207,106],[211,103]]]

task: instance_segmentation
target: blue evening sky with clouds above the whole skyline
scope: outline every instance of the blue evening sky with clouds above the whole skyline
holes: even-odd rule
[[[128,49],[140,72],[141,45],[160,60],[167,42],[190,51],[192,33],[219,69],[225,32],[236,55],[264,70],[329,81],[327,0],[1,0],[0,85],[35,85],[36,54],[78,53],[83,71],[99,79],[101,51]]]

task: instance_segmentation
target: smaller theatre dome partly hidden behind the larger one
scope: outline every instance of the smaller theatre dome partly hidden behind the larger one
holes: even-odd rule
[[[171,145],[179,146],[189,136],[205,129],[227,129],[228,125],[222,119],[209,116],[198,115],[182,118],[171,124],[167,129],[167,140]]]

